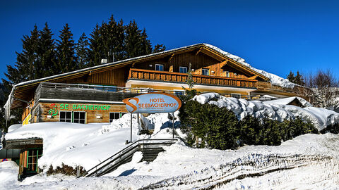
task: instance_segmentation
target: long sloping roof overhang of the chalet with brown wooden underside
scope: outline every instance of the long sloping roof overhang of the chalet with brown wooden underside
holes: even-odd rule
[[[72,72],[66,72],[66,73],[59,74],[59,75],[44,77],[44,78],[40,78],[37,80],[21,82],[13,86],[11,94],[8,96],[8,101],[6,102],[4,106],[6,108],[6,116],[9,117],[9,110],[24,106],[28,101],[30,101],[30,99],[28,99],[28,94],[34,94],[35,89],[41,82],[61,82],[63,80],[72,80],[74,78],[83,77],[85,75],[92,75],[97,72],[104,72],[106,70],[112,70],[114,68],[121,68],[126,65],[133,65],[133,64],[140,63],[143,61],[150,61],[150,60],[154,60],[157,58],[170,59],[174,56],[174,54],[177,55],[177,54],[186,53],[189,51],[196,51],[196,54],[200,52],[205,53],[206,55],[211,56],[212,58],[215,58],[216,60],[220,62],[227,63],[227,65],[230,65],[233,68],[236,68],[238,70],[239,69],[245,70],[246,72],[251,73],[251,75],[256,75],[257,77],[260,77],[261,79],[265,81],[269,81],[268,77],[261,75],[260,73],[252,70],[251,68],[246,67],[245,65],[242,65],[242,63],[238,63],[237,61],[234,61],[232,58],[227,57],[226,55],[222,54],[222,52],[220,51],[210,48],[206,44],[194,44],[191,46],[184,46],[178,49],[171,49],[171,50],[162,51],[159,53],[152,53],[152,54],[145,55],[145,56],[139,56],[136,58],[129,58],[129,59],[117,61],[114,63],[106,63],[104,65],[97,65],[91,68],[85,68],[82,70],[75,70]]]

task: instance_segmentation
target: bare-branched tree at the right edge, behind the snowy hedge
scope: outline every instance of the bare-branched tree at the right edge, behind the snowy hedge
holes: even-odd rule
[[[339,102],[338,79],[331,70],[318,70],[305,77],[304,96],[316,107],[335,109]]]

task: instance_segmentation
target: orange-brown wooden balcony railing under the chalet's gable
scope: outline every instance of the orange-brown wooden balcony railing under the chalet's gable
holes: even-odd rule
[[[157,70],[133,69],[129,70],[129,79],[138,80],[154,80],[164,82],[186,82],[187,74],[179,72],[167,72]],[[196,84],[210,84],[228,87],[246,87],[256,88],[257,80],[237,79],[230,77],[215,77],[207,75],[193,75],[193,80]]]

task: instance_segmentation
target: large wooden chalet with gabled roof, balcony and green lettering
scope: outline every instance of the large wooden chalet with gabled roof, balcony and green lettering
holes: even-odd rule
[[[33,122],[110,122],[126,113],[126,97],[148,91],[183,94],[191,68],[194,89],[227,96],[296,96],[296,89],[270,84],[268,77],[234,61],[208,44],[106,63],[16,84],[6,103],[6,115],[25,108],[23,125]]]

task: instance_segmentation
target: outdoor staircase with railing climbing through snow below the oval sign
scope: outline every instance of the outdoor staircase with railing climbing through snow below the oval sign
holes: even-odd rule
[[[129,146],[126,146],[121,151],[110,156],[95,167],[88,170],[83,177],[95,176],[99,177],[109,172],[116,170],[120,165],[128,163],[132,160],[132,156],[136,151],[143,153],[142,161],[151,162],[157,158],[157,155],[165,151],[163,146],[170,146],[174,144],[177,139],[140,139],[134,141]]]

